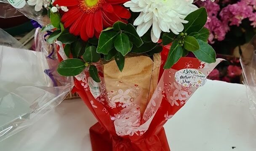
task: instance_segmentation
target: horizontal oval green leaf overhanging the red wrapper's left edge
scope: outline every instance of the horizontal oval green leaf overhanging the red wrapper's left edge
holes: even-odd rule
[[[85,62],[80,59],[67,59],[59,63],[58,73],[61,76],[76,76],[85,69]]]

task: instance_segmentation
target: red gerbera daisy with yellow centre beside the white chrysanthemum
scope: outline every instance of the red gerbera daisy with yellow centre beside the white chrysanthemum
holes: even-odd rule
[[[99,37],[103,28],[112,26],[116,21],[127,22],[131,17],[123,3],[128,0],[56,0],[53,4],[67,6],[68,12],[61,17],[64,27],[85,41],[94,35]]]

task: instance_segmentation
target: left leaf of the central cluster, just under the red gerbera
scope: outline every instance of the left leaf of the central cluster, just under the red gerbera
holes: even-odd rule
[[[117,36],[116,31],[104,31],[101,32],[99,36],[99,44],[97,47],[97,52],[107,55],[109,51],[114,47],[114,39]]]

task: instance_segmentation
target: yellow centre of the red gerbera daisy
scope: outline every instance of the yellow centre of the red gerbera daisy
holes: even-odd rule
[[[79,0],[79,7],[85,13],[95,13],[104,3],[105,0]]]

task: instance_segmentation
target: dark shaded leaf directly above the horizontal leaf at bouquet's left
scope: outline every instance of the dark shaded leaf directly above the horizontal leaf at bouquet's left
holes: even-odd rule
[[[86,43],[82,39],[78,39],[71,44],[71,53],[74,58],[78,58],[85,53]]]

